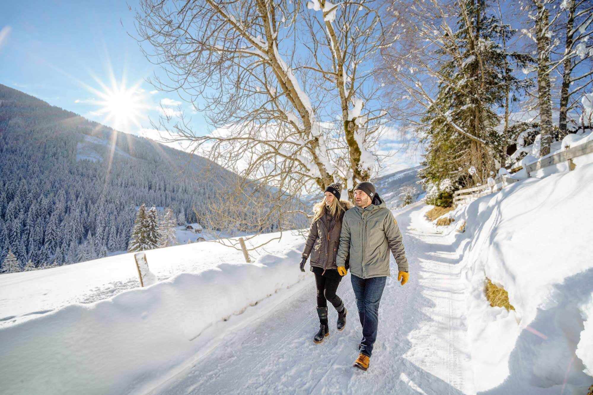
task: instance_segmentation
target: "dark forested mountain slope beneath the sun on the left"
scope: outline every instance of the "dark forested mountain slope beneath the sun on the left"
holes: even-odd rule
[[[141,203],[200,222],[193,208],[233,176],[0,84],[0,264],[9,249],[21,267],[125,251]]]

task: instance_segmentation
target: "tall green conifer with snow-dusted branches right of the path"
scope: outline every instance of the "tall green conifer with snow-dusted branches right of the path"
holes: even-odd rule
[[[499,45],[510,31],[487,13],[485,1],[461,4],[453,39],[436,50],[442,59],[439,89],[422,119],[428,149],[420,176],[433,183],[449,178],[483,184],[502,152],[495,109],[505,101],[505,87],[516,82],[509,77],[509,54]],[[470,167],[476,168],[472,176]]]

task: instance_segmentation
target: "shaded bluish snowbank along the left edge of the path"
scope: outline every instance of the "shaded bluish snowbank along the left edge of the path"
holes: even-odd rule
[[[213,323],[310,275],[298,270],[302,237],[298,243],[290,240],[283,239],[283,254],[260,256],[251,265],[181,273],[4,327],[2,392],[129,393],[158,379],[197,352],[199,342],[193,340]],[[151,265],[150,255],[148,261]],[[30,372],[25,380],[23,372]]]

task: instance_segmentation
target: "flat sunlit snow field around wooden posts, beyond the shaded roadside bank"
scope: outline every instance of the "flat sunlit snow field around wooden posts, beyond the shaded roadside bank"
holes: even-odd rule
[[[279,233],[262,234],[246,243],[247,246],[251,246],[251,243],[261,244],[278,236]],[[262,252],[281,256],[285,254],[287,246],[291,248],[302,241],[303,237],[298,232],[283,232],[280,242],[270,241]],[[243,252],[215,241],[145,252],[148,266],[158,281],[179,273],[201,273],[221,263],[245,262]],[[255,252],[250,255],[254,259],[259,257]],[[34,319],[71,304],[105,300],[139,286],[133,253],[52,269],[4,274],[0,276],[0,328]]]

